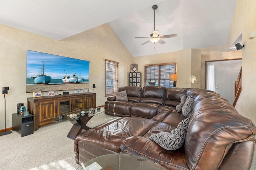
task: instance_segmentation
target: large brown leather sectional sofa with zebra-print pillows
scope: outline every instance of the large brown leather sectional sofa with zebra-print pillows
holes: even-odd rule
[[[215,92],[195,88],[125,86],[128,101],[105,103],[105,113],[120,116],[81,133],[74,140],[78,164],[104,154],[134,154],[169,170],[246,170],[254,155],[256,127]],[[185,143],[165,150],[148,139],[170,132],[185,119],[176,111],[183,95],[194,98]]]

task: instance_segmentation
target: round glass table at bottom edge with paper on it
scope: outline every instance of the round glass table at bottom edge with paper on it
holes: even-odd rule
[[[93,158],[77,170],[167,170],[151,160],[130,154],[106,154]]]

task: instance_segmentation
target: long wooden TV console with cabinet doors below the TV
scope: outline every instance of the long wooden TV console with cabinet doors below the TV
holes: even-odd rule
[[[53,123],[52,119],[78,109],[96,107],[96,93],[66,94],[28,98],[28,111],[34,115],[34,131]]]

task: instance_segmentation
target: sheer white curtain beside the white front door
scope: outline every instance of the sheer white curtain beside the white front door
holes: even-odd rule
[[[216,80],[216,62],[206,63],[206,89],[216,92],[215,80]]]

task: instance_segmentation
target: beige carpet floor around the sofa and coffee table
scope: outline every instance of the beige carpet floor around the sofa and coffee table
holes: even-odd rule
[[[87,125],[95,127],[114,118],[100,113]],[[76,170],[74,141],[66,137],[72,125],[52,123],[25,137],[16,131],[0,136],[0,170]],[[256,156],[251,170],[256,170]]]

